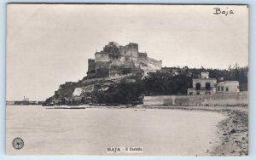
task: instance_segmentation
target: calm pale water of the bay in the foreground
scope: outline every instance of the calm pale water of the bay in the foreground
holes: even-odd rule
[[[137,110],[137,111],[136,111]],[[139,155],[201,155],[216,146],[224,116],[163,109],[45,109],[7,106],[10,155],[106,155],[109,146],[141,146]],[[12,140],[25,146],[15,150]]]

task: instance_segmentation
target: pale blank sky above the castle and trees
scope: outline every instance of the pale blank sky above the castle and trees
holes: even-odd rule
[[[214,8],[234,14],[213,14]],[[248,65],[247,6],[9,4],[6,99],[45,100],[86,76],[108,42],[138,43],[163,66]]]

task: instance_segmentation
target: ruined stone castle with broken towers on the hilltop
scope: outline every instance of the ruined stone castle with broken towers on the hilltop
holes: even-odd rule
[[[116,77],[129,73],[157,71],[162,67],[161,60],[148,57],[147,53],[138,51],[137,43],[125,46],[110,42],[95,59],[88,60],[87,78]]]

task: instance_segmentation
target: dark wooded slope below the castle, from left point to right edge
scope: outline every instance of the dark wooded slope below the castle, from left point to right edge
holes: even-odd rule
[[[247,72],[248,67],[230,66],[227,70],[219,69],[200,69],[189,68],[187,66],[165,67],[160,71],[150,72],[148,75],[136,77],[124,77],[118,82],[95,83],[83,86],[83,84],[73,83],[68,86],[62,86],[65,90],[63,94],[55,94],[46,100],[47,104],[54,105],[81,105],[81,104],[141,104],[144,95],[172,95],[187,94],[187,89],[192,88],[192,79],[201,76],[202,71],[208,71],[209,77],[216,78],[217,82],[238,81],[240,90],[247,90]],[[76,87],[89,89],[84,91],[80,97],[73,96]],[[56,102],[57,101],[57,102]]]

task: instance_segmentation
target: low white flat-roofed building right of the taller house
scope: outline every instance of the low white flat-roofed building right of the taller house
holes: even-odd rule
[[[236,93],[239,92],[238,81],[224,81],[217,84],[217,93]]]

